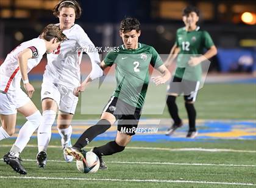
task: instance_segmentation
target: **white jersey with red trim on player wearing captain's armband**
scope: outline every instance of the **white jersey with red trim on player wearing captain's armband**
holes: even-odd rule
[[[46,52],[46,45],[43,39],[34,38],[18,45],[5,58],[0,66],[0,90],[7,93],[20,87],[21,73],[18,64],[18,55],[24,49],[32,50],[33,57],[27,61],[27,73],[39,64]]]

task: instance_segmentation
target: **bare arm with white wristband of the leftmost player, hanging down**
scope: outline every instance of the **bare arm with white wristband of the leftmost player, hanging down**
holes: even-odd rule
[[[29,83],[29,78],[27,76],[27,61],[33,57],[31,49],[25,49],[18,55],[18,64],[20,67],[21,76],[23,79],[24,88],[27,92],[27,95],[31,98],[35,89]]]

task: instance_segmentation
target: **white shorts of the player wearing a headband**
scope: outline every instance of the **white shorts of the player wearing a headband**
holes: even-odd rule
[[[78,102],[78,97],[73,94],[74,88],[61,84],[43,82],[41,88],[41,101],[51,98],[57,102],[59,110],[65,113],[74,114]]]

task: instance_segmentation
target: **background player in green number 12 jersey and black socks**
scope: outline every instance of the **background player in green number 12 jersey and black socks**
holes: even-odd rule
[[[177,68],[170,82],[166,101],[174,123],[167,130],[166,135],[171,135],[183,124],[176,105],[176,97],[183,93],[189,122],[187,138],[194,138],[197,135],[194,102],[201,81],[201,62],[204,63],[206,59],[215,56],[217,50],[209,33],[197,26],[199,10],[196,7],[186,7],[182,19],[185,27],[177,30],[176,42],[165,63],[168,67],[177,57]],[[206,53],[204,49],[207,49]]]

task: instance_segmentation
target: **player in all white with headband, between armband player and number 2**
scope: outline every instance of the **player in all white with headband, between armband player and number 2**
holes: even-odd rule
[[[95,79],[102,76],[99,67],[99,54],[95,50],[93,42],[88,38],[82,27],[75,24],[75,19],[81,15],[80,5],[74,1],[60,1],[54,7],[54,15],[59,18],[60,29],[68,40],[62,42],[54,53],[47,56],[48,65],[43,75],[41,89],[41,102],[43,108],[43,121],[38,128],[38,154],[39,167],[46,165],[46,150],[51,139],[51,126],[54,124],[56,113],[57,129],[62,136],[62,147],[71,146],[72,127],[70,126],[74,112],[76,111],[78,97],[74,95],[74,89],[80,83],[80,62],[84,49],[91,59],[92,70],[87,79]],[[73,161],[72,156],[64,154],[67,162]]]

